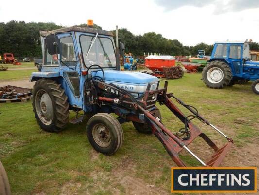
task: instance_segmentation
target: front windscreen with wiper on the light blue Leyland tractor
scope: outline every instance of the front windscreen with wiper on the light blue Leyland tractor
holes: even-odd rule
[[[113,42],[109,38],[80,36],[83,59],[86,67],[97,64],[102,68],[115,67]]]

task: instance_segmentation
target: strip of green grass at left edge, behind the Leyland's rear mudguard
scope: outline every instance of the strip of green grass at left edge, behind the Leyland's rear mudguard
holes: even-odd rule
[[[29,79],[32,72],[37,72],[38,70],[12,70],[12,71],[0,71],[0,82],[8,80],[23,80]]]

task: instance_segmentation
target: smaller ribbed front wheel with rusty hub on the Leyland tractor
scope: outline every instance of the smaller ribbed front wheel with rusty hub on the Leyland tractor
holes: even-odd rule
[[[104,155],[114,154],[124,140],[120,122],[107,113],[91,117],[87,122],[86,132],[92,147]]]

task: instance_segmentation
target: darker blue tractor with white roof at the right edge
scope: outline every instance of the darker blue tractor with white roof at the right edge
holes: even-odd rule
[[[251,80],[253,92],[259,94],[259,62],[251,61],[249,42],[216,42],[211,58],[203,69],[202,79],[208,87],[214,89]]]

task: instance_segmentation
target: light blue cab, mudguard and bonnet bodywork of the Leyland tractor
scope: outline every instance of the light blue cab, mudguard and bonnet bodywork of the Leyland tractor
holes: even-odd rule
[[[117,63],[113,33],[93,27],[72,26],[40,32],[43,64],[34,72],[31,81],[42,78],[57,80],[65,90],[73,109],[90,112],[84,100],[85,83],[92,77],[127,89],[135,98],[140,97],[149,82],[158,78],[144,73],[123,72]],[[124,45],[120,43],[120,54]],[[154,88],[156,85],[152,85]]]

